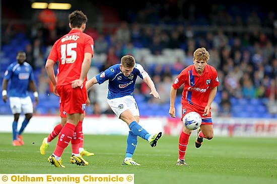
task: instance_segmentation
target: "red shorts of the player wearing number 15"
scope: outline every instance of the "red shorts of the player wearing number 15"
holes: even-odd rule
[[[68,84],[59,85],[56,90],[60,96],[60,114],[84,113],[88,98],[86,87],[72,88],[71,84]]]

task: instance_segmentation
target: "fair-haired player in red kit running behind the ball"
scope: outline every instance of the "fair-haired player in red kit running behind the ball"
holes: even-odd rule
[[[209,52],[205,48],[198,48],[193,53],[193,65],[186,67],[176,77],[170,89],[170,109],[169,114],[175,118],[174,102],[177,89],[184,84],[182,93],[182,118],[186,113],[197,112],[202,117],[202,123],[197,130],[195,147],[199,148],[203,138],[212,139],[214,137],[213,121],[211,114],[211,104],[217,93],[219,79],[217,70],[207,64],[210,59]],[[176,165],[187,165],[185,163],[185,151],[188,139],[191,134],[185,126],[179,138],[179,157]]]

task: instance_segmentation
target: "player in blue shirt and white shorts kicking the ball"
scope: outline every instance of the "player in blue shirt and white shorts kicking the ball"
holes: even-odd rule
[[[132,96],[137,76],[147,83],[151,90],[150,95],[160,99],[160,95],[148,73],[142,65],[135,63],[134,58],[129,55],[123,56],[120,64],[109,67],[86,83],[86,88],[88,89],[93,84],[101,84],[109,80],[108,104],[119,119],[127,123],[130,130],[127,137],[125,159],[122,165],[141,165],[132,159],[137,144],[137,136],[147,140],[152,147],[155,147],[157,141],[162,137],[162,132],[149,134],[137,124],[140,121],[140,112]]]

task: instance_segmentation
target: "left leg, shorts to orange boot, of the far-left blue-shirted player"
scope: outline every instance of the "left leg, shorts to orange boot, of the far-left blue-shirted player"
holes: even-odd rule
[[[10,97],[10,107],[12,110],[12,113],[14,115],[14,121],[13,121],[13,145],[14,146],[21,146],[21,143],[17,139],[17,124],[18,124],[18,119],[21,113],[21,103],[20,103],[20,98],[19,97]]]

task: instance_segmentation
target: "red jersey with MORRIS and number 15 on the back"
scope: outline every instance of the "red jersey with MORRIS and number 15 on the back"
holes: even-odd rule
[[[48,59],[59,61],[57,86],[70,84],[79,79],[85,53],[93,56],[94,42],[91,36],[79,29],[73,29],[53,45]],[[87,78],[86,78],[87,80]]]

